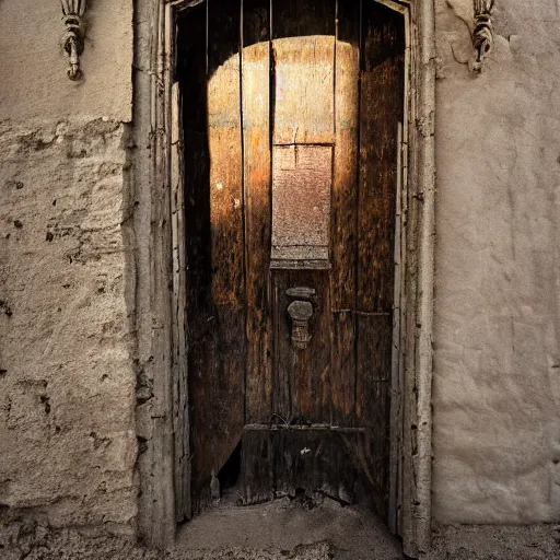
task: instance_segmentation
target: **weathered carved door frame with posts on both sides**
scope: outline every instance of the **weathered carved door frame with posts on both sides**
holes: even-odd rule
[[[141,540],[165,547],[188,516],[188,395],[180,135],[173,88],[176,16],[205,0],[135,1],[131,191],[139,392]],[[435,48],[433,0],[376,1],[406,26],[405,118],[397,196],[390,400],[389,528],[405,553],[430,547],[434,265]],[[145,387],[150,397],[145,399]]]

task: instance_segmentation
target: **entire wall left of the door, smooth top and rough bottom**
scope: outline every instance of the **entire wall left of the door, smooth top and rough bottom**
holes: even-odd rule
[[[0,2],[0,545],[136,530],[132,2],[90,5],[73,83],[60,3]]]

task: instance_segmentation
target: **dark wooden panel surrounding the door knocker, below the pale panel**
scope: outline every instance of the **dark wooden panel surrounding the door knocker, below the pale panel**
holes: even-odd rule
[[[287,421],[324,422],[330,415],[330,292],[326,270],[273,270],[275,300],[275,412]],[[287,290],[307,287],[313,315],[311,340],[305,349],[292,342],[289,305],[298,300]]]

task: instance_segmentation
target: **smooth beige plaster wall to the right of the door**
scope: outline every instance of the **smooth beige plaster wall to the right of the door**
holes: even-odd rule
[[[498,0],[479,77],[467,63],[471,5],[436,2],[433,513],[556,521],[559,4]]]

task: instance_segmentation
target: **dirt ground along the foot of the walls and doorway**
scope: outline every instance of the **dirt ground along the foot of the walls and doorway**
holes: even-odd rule
[[[0,542],[1,560],[398,560],[398,539],[371,513],[328,499],[238,508],[225,501],[186,524],[175,546],[30,532]],[[425,560],[560,560],[560,525],[435,527]]]

